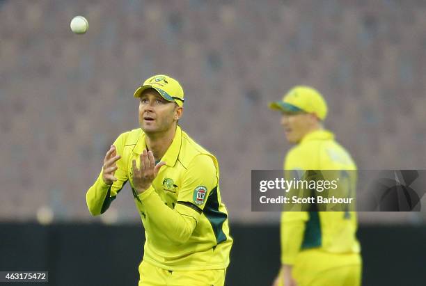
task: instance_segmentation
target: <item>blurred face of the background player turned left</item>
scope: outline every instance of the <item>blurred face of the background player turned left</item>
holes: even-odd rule
[[[313,129],[315,116],[308,113],[283,113],[281,125],[290,143],[299,143]]]

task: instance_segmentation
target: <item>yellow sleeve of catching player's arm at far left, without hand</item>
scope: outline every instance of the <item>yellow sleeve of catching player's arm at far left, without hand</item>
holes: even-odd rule
[[[123,189],[123,186],[127,182],[127,171],[123,158],[123,149],[125,145],[123,134],[118,136],[113,145],[116,147],[117,154],[121,156],[116,162],[118,169],[114,176],[117,180],[113,182],[111,186],[105,184],[104,180],[102,180],[102,170],[100,171],[95,184],[90,186],[86,193],[86,203],[90,214],[93,216],[98,216],[107,211],[111,202],[116,199],[117,194]]]

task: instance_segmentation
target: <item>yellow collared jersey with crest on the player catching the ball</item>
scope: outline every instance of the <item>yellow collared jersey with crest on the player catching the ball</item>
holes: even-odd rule
[[[90,213],[104,213],[129,181],[134,202],[145,228],[143,260],[167,270],[225,269],[232,238],[228,213],[219,191],[216,158],[178,126],[170,147],[161,158],[166,163],[149,189],[137,194],[132,183],[132,160],[147,148],[142,129],[118,136],[116,182],[104,184],[102,171],[88,189]]]

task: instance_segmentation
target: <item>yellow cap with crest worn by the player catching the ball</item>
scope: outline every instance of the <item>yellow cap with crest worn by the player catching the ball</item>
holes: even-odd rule
[[[157,74],[150,77],[143,82],[143,85],[136,89],[134,97],[140,97],[143,90],[154,88],[157,92],[164,97],[164,100],[169,102],[176,102],[178,106],[183,106],[184,92],[179,81],[169,77],[165,74]]]

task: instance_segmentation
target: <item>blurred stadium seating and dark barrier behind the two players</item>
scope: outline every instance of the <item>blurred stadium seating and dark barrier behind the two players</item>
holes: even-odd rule
[[[75,15],[85,35],[70,31]],[[133,91],[157,73],[180,80],[180,125],[221,165],[226,285],[271,285],[279,267],[279,214],[251,212],[250,174],[282,168],[290,145],[267,102],[290,87],[324,94],[326,127],[358,168],[426,166],[425,1],[3,0],[0,271],[136,285],[143,228],[129,189],[101,218],[85,193],[116,136],[138,127]],[[363,285],[426,285],[424,210],[359,220]]]

